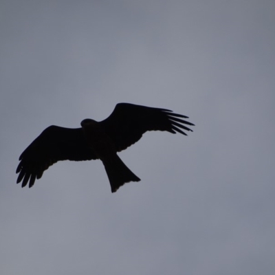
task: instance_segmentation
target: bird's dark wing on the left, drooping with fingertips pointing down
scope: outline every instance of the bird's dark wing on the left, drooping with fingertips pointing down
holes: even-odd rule
[[[22,180],[22,187],[34,185],[35,179],[40,179],[43,172],[59,160],[90,160],[96,155],[88,147],[83,129],[69,129],[50,126],[23,151],[17,167],[19,173],[17,184]]]

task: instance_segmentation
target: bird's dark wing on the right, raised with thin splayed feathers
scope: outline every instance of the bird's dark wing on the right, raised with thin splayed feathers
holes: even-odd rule
[[[183,130],[192,130],[184,124],[194,124],[181,118],[188,117],[167,109],[119,103],[109,118],[102,120],[100,125],[115,142],[117,151],[122,151],[140,140],[146,131],[179,132],[186,135]]]

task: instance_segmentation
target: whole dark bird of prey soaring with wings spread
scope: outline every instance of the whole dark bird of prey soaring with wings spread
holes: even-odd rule
[[[140,181],[117,155],[140,140],[146,131],[184,133],[192,131],[182,120],[185,115],[168,109],[118,103],[108,118],[100,122],[87,118],[81,128],[49,126],[23,151],[19,157],[17,184],[31,188],[47,168],[60,160],[84,161],[100,159],[115,192],[130,181]]]

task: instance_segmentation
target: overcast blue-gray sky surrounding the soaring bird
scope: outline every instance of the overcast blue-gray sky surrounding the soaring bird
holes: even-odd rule
[[[1,1],[0,273],[273,275],[274,1]],[[118,102],[190,116],[101,162],[17,186],[47,126]]]

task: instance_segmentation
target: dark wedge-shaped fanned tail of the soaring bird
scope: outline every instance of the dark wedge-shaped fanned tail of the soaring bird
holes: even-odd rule
[[[122,162],[118,155],[113,155],[109,159],[104,159],[102,161],[108,175],[111,192],[115,192],[120,188],[120,186],[126,184],[130,181],[140,181],[140,178],[137,177],[125,164]]]

